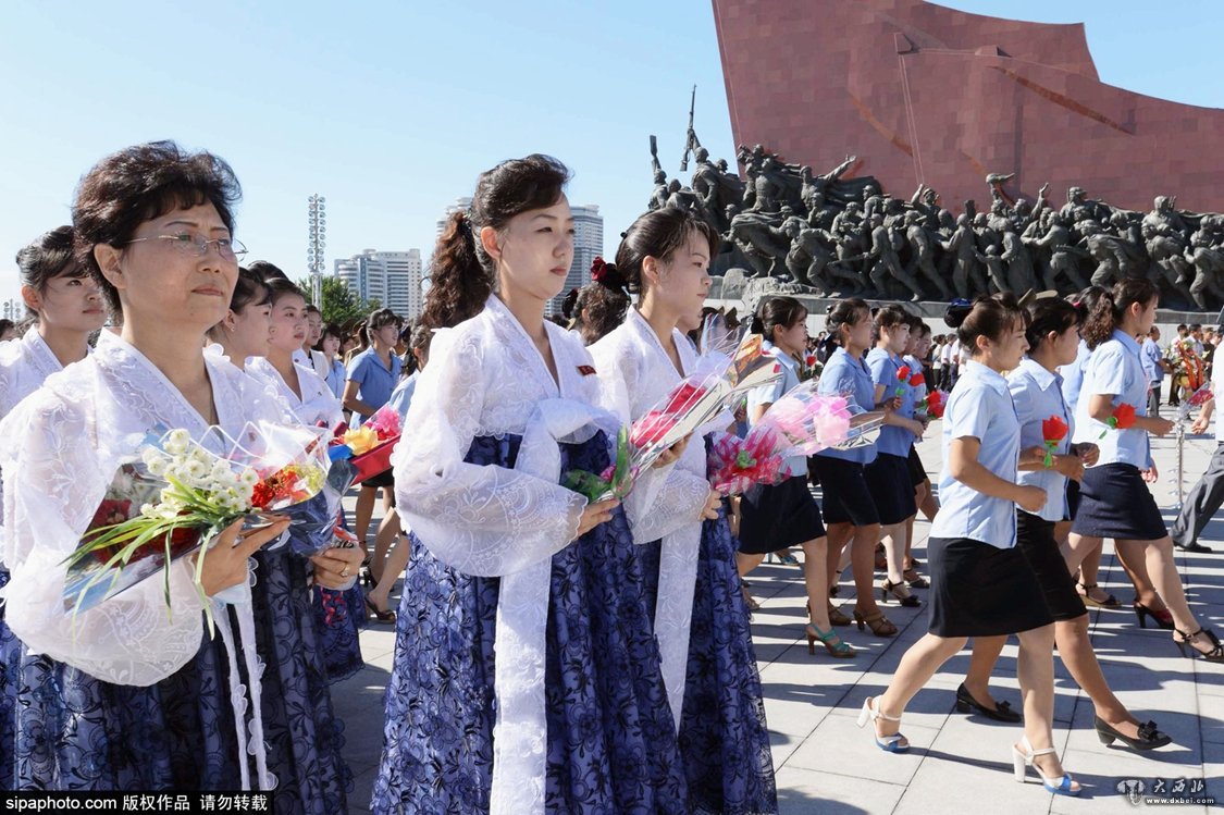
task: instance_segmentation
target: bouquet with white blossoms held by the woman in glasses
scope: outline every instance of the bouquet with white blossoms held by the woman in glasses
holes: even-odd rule
[[[65,560],[65,609],[88,611],[158,571],[169,607],[173,560],[240,518],[257,526],[263,513],[300,504],[323,488],[327,431],[259,422],[237,439],[215,427],[209,433],[212,443],[200,443],[185,430],[158,427],[138,442]],[[195,574],[201,598],[204,557],[201,552]],[[211,613],[208,622],[212,627]]]

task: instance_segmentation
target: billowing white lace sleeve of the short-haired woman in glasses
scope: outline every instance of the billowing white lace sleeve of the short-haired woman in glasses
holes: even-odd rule
[[[42,393],[2,427],[21,439],[2,450],[5,471],[5,622],[32,652],[45,653],[99,679],[149,685],[200,650],[200,602],[186,560],[164,582],[146,580],[77,614],[64,609],[64,559],[76,548],[114,476],[99,461],[118,458],[94,432],[84,409]],[[89,442],[93,443],[89,443]],[[100,448],[100,449],[99,449]]]

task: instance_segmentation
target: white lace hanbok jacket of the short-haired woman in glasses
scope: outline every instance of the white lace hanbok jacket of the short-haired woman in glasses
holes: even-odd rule
[[[279,421],[262,384],[206,355],[220,427]],[[187,559],[164,584],[152,579],[82,612],[64,609],[64,559],[76,548],[122,460],[157,425],[204,437],[208,421],[138,350],[103,332],[89,359],[51,376],[0,422],[4,497],[5,618],[32,652],[99,679],[149,685],[200,650],[201,600]],[[220,450],[218,450],[220,452]]]

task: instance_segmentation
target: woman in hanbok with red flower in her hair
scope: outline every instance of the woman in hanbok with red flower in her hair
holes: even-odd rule
[[[710,289],[706,269],[717,247],[717,234],[705,221],[685,210],[657,209],[629,226],[616,267],[605,267],[600,275],[603,285],[619,289],[623,278],[630,291],[640,292],[624,324],[590,346],[606,401],[623,422],[640,419],[684,377],[698,373],[696,350],[677,326],[685,318],[700,321]],[[723,428],[730,414],[725,419]],[[657,489],[639,485],[627,502],[630,525],[639,542],[662,538],[655,633],[692,811],[776,813],[774,761],[736,542],[707,480],[706,453],[706,439],[698,432]]]

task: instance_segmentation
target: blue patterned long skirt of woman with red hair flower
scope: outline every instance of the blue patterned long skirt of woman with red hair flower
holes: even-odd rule
[[[700,815],[777,813],[774,757],[726,508],[701,526],[681,755]]]

